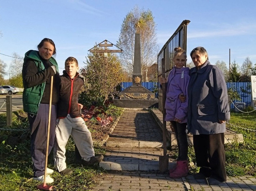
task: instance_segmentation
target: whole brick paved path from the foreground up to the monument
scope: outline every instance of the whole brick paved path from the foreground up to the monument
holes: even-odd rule
[[[162,141],[161,129],[156,128],[157,124],[153,120],[151,113],[141,110],[126,110],[121,116],[112,135],[107,140],[110,146],[104,158],[103,164],[107,165],[109,161],[115,161],[119,164],[118,170],[107,170],[106,173],[98,179],[98,185],[91,191],[252,191],[256,190],[256,178],[252,176],[227,177],[226,182],[219,182],[216,179],[196,180],[189,174],[180,179],[172,179],[167,173],[161,174],[157,170],[135,170],[135,164],[141,159],[147,160],[143,169],[150,169],[155,163],[158,163],[159,156],[162,155],[161,148],[147,148],[153,142]],[[111,144],[112,142],[112,144]],[[119,144],[118,144],[119,142]],[[136,146],[134,146],[136,145]],[[139,147],[139,146],[142,146]],[[170,162],[173,160],[170,159]],[[152,162],[152,163],[149,163]],[[169,167],[170,167],[169,163]],[[101,163],[100,163],[101,165]],[[125,171],[133,168],[133,171]]]

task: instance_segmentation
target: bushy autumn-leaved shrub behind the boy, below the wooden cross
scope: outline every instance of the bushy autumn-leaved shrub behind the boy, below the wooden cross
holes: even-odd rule
[[[97,49],[99,48],[95,47],[94,50]],[[115,87],[125,80],[120,61],[114,53],[104,55],[104,53],[94,52],[88,54],[85,64],[81,69],[88,87],[84,96],[87,96],[90,102],[104,103],[108,96],[115,92]],[[80,100],[82,99],[80,97]]]

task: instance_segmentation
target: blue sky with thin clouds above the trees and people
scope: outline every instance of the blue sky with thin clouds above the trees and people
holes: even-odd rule
[[[153,12],[160,49],[187,19],[187,62],[190,51],[203,46],[212,64],[223,60],[228,67],[229,49],[231,62],[242,65],[249,57],[256,64],[256,0],[2,0],[0,53],[24,56],[47,37],[56,44],[60,68],[69,56],[82,67],[95,43],[107,39],[116,44],[121,24],[135,5]],[[9,72],[12,58],[0,54],[0,59]]]

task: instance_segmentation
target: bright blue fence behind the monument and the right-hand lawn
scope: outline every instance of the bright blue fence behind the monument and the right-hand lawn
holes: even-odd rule
[[[244,102],[245,106],[251,105],[251,82],[227,82],[227,88],[231,88],[238,92],[241,97],[241,101],[234,100],[233,102]],[[132,82],[121,82],[121,91],[132,85]],[[157,85],[157,82],[142,82],[141,85],[147,88],[149,91],[153,91],[153,88]],[[158,97],[156,92],[155,97]],[[231,109],[234,109],[234,105],[231,104]]]

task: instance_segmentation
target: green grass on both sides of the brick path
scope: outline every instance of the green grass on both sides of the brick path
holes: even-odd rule
[[[25,118],[18,118],[15,114],[13,114],[13,121],[12,127],[6,130],[6,116],[0,114],[0,190],[36,190],[41,182],[32,180],[28,123]],[[230,124],[228,124],[228,128],[243,134],[244,143],[225,145],[227,174],[229,176],[253,175],[256,177],[256,112],[249,114],[232,112]],[[95,123],[92,126],[88,124],[88,127],[92,132],[95,131],[93,129]],[[94,149],[95,153],[104,154],[104,148],[96,146]],[[175,149],[173,154],[177,154]],[[61,176],[54,172],[52,177],[55,181],[51,185],[56,190],[89,190],[95,185],[97,177],[104,173],[97,166],[86,167],[74,164],[74,142],[72,139],[67,144],[66,157],[68,168],[73,170],[73,174]],[[189,147],[189,157],[191,162],[195,162],[193,147]],[[48,158],[48,164],[48,167],[54,169],[52,154]],[[194,167],[191,170],[196,171],[197,168]]]

